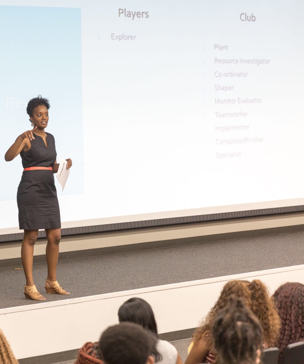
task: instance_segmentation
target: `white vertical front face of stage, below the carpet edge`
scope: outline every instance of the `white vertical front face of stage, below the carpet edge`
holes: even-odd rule
[[[159,333],[184,330],[199,325],[224,284],[233,279],[260,279],[272,294],[287,281],[304,283],[304,265],[1,309],[0,327],[18,359],[68,351],[97,341],[106,327],[117,323],[119,306],[137,296],[151,304]],[[52,324],[54,318],[64,327]],[[24,322],[43,323],[43,335],[37,325]]]

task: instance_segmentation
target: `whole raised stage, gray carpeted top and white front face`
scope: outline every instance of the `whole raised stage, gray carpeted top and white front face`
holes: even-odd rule
[[[259,278],[271,292],[286,281],[304,283],[303,241],[298,232],[60,261],[58,281],[71,294],[46,294],[44,302],[25,300],[24,273],[15,269],[21,267],[3,268],[0,328],[21,364],[35,363],[26,359],[32,357],[56,363],[64,360],[51,361],[52,355],[98,340],[117,323],[119,306],[139,296],[153,307],[167,340],[183,339],[228,280]],[[44,294],[46,264],[34,265],[34,278]]]

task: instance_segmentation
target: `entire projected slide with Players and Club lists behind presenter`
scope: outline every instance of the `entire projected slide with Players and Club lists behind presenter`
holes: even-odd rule
[[[1,150],[49,97],[63,227],[304,204],[302,1],[0,5]],[[20,157],[0,166],[19,232]]]

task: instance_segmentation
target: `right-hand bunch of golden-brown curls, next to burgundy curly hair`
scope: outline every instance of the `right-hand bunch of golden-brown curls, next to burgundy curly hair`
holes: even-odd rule
[[[258,279],[248,282],[247,287],[250,292],[249,308],[262,325],[264,342],[268,346],[275,346],[280,333],[280,317],[273,298]]]

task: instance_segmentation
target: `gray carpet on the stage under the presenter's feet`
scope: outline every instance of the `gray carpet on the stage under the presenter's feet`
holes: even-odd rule
[[[297,232],[59,261],[57,279],[71,294],[46,297],[64,300],[304,264],[303,242],[304,232]],[[46,274],[45,263],[34,265],[42,294]],[[37,303],[23,295],[22,269],[0,269],[0,282],[0,308]]]

